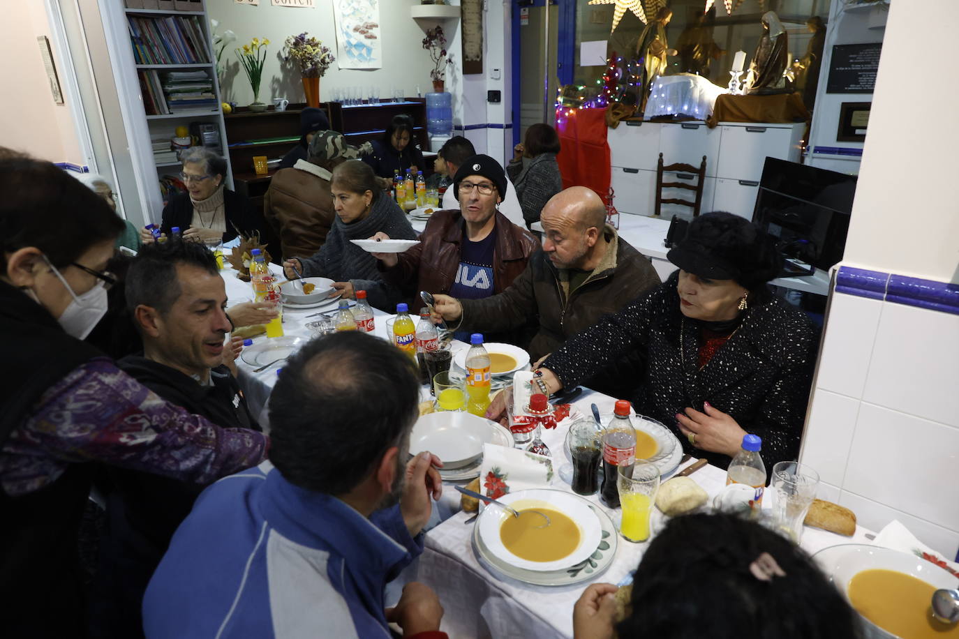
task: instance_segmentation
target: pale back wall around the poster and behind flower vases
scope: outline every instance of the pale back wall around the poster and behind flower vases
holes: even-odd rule
[[[416,97],[416,89],[426,95],[432,91],[430,70],[433,61],[421,46],[424,32],[409,16],[409,8],[419,0],[385,0],[380,3],[380,25],[383,39],[383,68],[375,70],[339,69],[338,62],[319,80],[320,100],[332,100],[333,89],[375,86],[383,98],[392,96],[393,88],[403,89],[407,97]],[[293,103],[305,102],[303,85],[297,67],[282,61],[283,42],[288,35],[308,32],[337,53],[332,0],[316,0],[315,9],[273,7],[269,0],[259,6],[237,5],[233,0],[206,0],[211,18],[220,21],[217,30],[237,34],[235,44],[246,44],[254,36],[269,38],[269,54],[260,84],[260,100],[287,98]],[[430,27],[432,25],[427,25]],[[456,49],[458,51],[458,48]],[[253,101],[253,91],[246,80],[232,47],[223,52],[227,72],[222,83],[225,100],[241,106]],[[365,97],[365,96],[364,96]]]

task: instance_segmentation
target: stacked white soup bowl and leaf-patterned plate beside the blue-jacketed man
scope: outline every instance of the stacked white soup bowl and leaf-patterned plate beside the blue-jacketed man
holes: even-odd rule
[[[596,579],[613,562],[619,543],[609,515],[577,494],[550,489],[511,492],[498,499],[517,510],[548,508],[564,513],[579,527],[579,543],[562,559],[530,561],[517,557],[500,537],[503,521],[513,516],[495,505],[479,514],[473,549],[479,563],[500,578],[537,585],[570,585]]]

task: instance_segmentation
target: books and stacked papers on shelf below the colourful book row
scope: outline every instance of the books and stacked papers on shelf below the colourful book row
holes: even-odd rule
[[[213,79],[205,71],[171,71],[160,74],[140,69],[140,94],[147,115],[166,115],[193,111],[216,112],[217,95]]]

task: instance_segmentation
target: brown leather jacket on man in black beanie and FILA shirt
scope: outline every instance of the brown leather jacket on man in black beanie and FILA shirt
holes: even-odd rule
[[[400,285],[412,299],[417,291],[450,293],[459,268],[459,244],[463,240],[465,222],[456,209],[437,211],[430,218],[420,243],[401,253],[399,262],[384,269],[386,282]],[[539,248],[539,241],[502,213],[496,214],[496,244],[493,247],[493,292],[500,293],[512,284],[526,268],[529,256]],[[418,297],[416,298],[419,299]],[[418,309],[414,303],[411,309]]]

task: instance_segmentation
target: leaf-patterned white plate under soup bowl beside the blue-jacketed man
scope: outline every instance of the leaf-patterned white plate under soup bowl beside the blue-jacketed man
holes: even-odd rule
[[[575,496],[575,495],[574,495]],[[583,499],[579,497],[579,499]],[[586,502],[585,499],[583,499]],[[586,504],[596,513],[599,519],[599,525],[602,527],[599,543],[593,554],[572,566],[566,566],[559,570],[535,571],[517,568],[494,556],[482,539],[479,538],[479,526],[473,528],[473,550],[479,559],[480,565],[493,573],[499,579],[506,581],[512,579],[517,582],[533,583],[535,585],[573,585],[574,583],[594,582],[596,577],[603,573],[613,559],[616,558],[616,551],[620,544],[619,534],[616,530],[616,524],[610,516],[603,512],[601,508]]]

